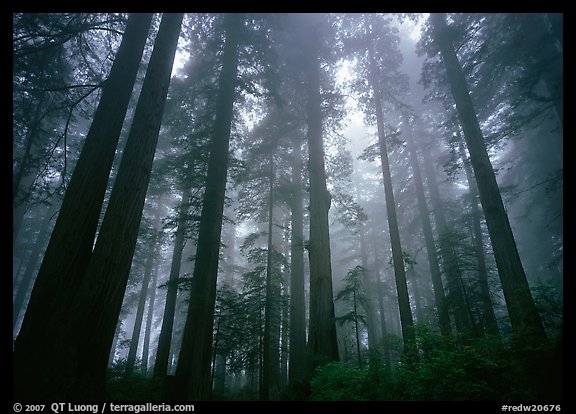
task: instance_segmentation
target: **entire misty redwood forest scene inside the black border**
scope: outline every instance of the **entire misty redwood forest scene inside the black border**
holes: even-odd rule
[[[562,400],[562,14],[12,20],[14,400]]]

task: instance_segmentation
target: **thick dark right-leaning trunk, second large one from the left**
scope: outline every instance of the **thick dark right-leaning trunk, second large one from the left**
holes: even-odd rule
[[[56,330],[60,341],[55,341],[59,347],[54,360],[59,367],[70,367],[59,368],[58,395],[68,399],[102,399],[105,394],[106,362],[142,218],[182,18],[183,13],[162,16],[94,252],[70,315]]]

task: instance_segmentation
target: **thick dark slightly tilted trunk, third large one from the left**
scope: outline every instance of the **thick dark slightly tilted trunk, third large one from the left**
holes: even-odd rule
[[[228,151],[238,70],[238,41],[243,17],[227,14],[226,40],[218,85],[214,136],[200,216],[196,264],[190,304],[176,369],[177,399],[206,399],[210,395],[212,327],[216,302],[218,253],[228,173]]]

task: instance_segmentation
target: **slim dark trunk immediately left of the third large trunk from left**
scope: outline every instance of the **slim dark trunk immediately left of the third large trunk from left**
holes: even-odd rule
[[[164,378],[168,372],[176,299],[178,297],[178,279],[180,278],[191,192],[190,186],[185,185],[180,210],[178,211],[178,227],[174,238],[174,251],[172,252],[172,264],[170,265],[170,276],[168,277],[168,288],[166,290],[166,304],[164,305],[162,328],[160,328],[160,335],[158,336],[158,349],[156,350],[156,362],[154,363],[154,377],[156,378]]]

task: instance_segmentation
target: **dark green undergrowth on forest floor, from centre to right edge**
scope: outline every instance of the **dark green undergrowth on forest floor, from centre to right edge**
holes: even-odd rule
[[[388,375],[375,355],[368,369],[344,363],[318,367],[311,400],[519,401],[562,395],[562,336],[547,343],[523,332],[502,342],[477,338],[463,346],[416,326],[419,358]]]

